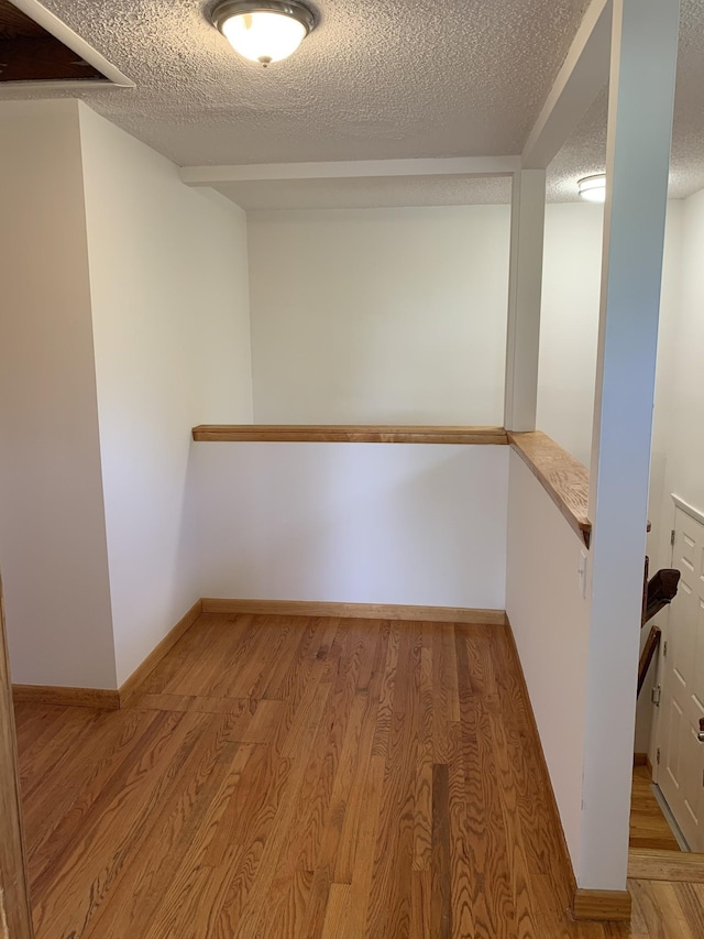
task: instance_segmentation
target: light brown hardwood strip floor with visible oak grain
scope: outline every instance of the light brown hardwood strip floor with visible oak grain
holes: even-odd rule
[[[16,718],[37,939],[704,936],[696,883],[571,921],[504,626],[204,614],[122,711]]]

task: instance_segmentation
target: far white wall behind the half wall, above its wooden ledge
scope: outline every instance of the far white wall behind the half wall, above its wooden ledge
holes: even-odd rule
[[[249,229],[257,423],[503,423],[508,206]]]

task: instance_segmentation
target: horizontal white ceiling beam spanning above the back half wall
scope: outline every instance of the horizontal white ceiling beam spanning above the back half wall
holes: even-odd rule
[[[184,166],[188,186],[280,179],[364,179],[391,176],[510,176],[519,156],[458,156],[428,160],[353,160],[329,163],[252,163],[240,166]]]

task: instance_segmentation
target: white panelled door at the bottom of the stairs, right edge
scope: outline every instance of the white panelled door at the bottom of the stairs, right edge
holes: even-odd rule
[[[675,510],[672,566],[681,572],[663,634],[658,785],[692,851],[704,851],[704,525]]]

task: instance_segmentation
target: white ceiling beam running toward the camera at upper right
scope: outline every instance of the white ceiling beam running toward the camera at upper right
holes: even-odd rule
[[[528,134],[525,170],[544,170],[608,80],[612,0],[593,0]]]

